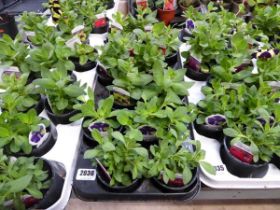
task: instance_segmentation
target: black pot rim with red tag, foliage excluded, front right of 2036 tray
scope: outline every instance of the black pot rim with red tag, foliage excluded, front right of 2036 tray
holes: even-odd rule
[[[179,192],[191,191],[194,187],[196,187],[197,180],[198,180],[198,168],[192,170],[192,179],[186,185],[184,185],[181,178],[176,178],[175,180],[171,180],[168,182],[168,184],[165,184],[162,179],[158,179],[157,177],[153,177],[151,181],[162,192],[179,193]]]

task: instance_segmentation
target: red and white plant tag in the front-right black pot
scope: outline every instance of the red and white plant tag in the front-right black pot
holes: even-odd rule
[[[251,151],[251,148],[242,142],[237,142],[236,144],[232,145],[229,151],[234,157],[243,162],[249,164],[253,162],[254,155]]]

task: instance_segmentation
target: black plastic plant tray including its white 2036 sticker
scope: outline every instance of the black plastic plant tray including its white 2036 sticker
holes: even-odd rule
[[[98,102],[100,99],[107,97],[108,92],[97,80],[95,81],[95,100]],[[96,176],[96,168],[92,166],[89,160],[83,159],[84,152],[89,148],[90,146],[83,141],[81,135],[81,146],[78,152],[77,165],[74,173],[73,190],[75,195],[82,200],[192,200],[200,191],[200,179],[197,178],[190,191],[180,193],[164,193],[149,179],[144,180],[134,192],[109,192],[99,183]]]

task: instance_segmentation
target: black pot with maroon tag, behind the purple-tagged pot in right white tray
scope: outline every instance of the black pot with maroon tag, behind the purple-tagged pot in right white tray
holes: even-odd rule
[[[201,64],[198,60],[190,56],[188,61],[184,64],[184,67],[187,69],[186,75],[196,81],[206,81],[210,76],[209,73],[201,71]]]

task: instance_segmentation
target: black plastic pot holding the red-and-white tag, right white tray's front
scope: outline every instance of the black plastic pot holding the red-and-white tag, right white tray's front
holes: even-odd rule
[[[251,178],[262,178],[268,171],[268,163],[245,163],[234,157],[230,151],[230,138],[225,137],[223,145],[220,149],[220,154],[223,163],[226,165],[227,170],[238,177],[251,177]]]

